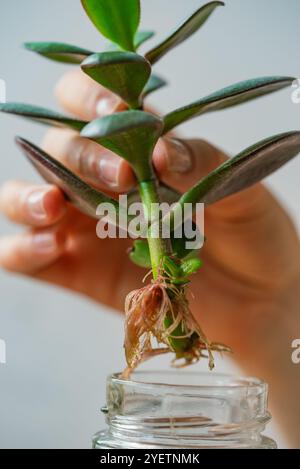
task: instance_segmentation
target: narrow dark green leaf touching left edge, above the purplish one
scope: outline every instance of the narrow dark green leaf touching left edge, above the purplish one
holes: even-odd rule
[[[0,103],[0,112],[14,114],[16,116],[32,119],[42,124],[56,127],[69,127],[73,130],[81,130],[87,124],[85,121],[73,119],[68,116],[50,111],[42,107],[23,103]]]

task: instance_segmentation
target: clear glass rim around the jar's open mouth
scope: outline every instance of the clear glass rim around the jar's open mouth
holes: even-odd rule
[[[186,377],[185,383],[176,382],[176,379]],[[161,379],[158,379],[161,378]],[[175,378],[175,381],[174,381]],[[199,379],[199,383],[190,384],[189,379]],[[159,388],[159,389],[170,389],[176,388],[177,390],[203,390],[209,391],[214,390],[245,390],[252,392],[262,391],[267,389],[265,381],[256,377],[245,377],[239,375],[232,375],[227,373],[216,373],[216,372],[202,372],[202,371],[179,371],[174,370],[146,370],[146,371],[134,371],[131,377],[123,378],[122,373],[113,373],[108,377],[108,381],[114,384],[120,384],[127,386],[138,386],[139,389]],[[169,381],[169,382],[168,382]]]

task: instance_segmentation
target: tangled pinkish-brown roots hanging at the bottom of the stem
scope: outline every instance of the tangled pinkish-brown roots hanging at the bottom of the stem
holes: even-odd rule
[[[212,352],[230,351],[229,347],[208,340],[190,311],[185,287],[171,284],[164,276],[129,293],[125,313],[128,368],[123,377],[129,377],[140,363],[162,353],[174,352],[172,365],[178,368],[205,357],[213,369]],[[155,341],[165,347],[154,348]]]

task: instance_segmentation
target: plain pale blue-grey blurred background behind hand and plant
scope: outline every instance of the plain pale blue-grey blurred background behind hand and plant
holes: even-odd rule
[[[158,109],[172,110],[247,78],[300,76],[299,0],[225,1],[226,8],[217,9],[197,35],[157,65],[170,83],[152,98]],[[142,0],[142,28],[157,31],[154,44],[201,3]],[[0,14],[0,79],[6,81],[8,101],[55,107],[53,86],[68,69],[26,52],[23,42],[61,41],[99,51],[105,45],[79,0],[0,1]],[[292,103],[291,92],[198,118],[181,127],[182,135],[209,139],[234,154],[264,137],[299,129],[300,104]],[[38,143],[44,131],[0,115],[1,183],[38,180],[13,138]],[[299,174],[298,158],[267,181],[298,226]],[[16,229],[0,219],[0,235]],[[7,346],[7,364],[0,364],[0,447],[89,448],[93,433],[104,427],[106,375],[124,366],[122,317],[67,291],[2,272],[0,304],[0,339]],[[227,359],[217,365],[219,371],[237,371]],[[196,367],[205,368],[206,363]],[[268,429],[285,447],[276,422]]]

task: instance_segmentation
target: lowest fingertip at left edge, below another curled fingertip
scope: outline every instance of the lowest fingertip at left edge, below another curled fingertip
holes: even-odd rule
[[[38,230],[0,239],[0,267],[10,272],[34,274],[55,262],[66,239],[57,230]]]

